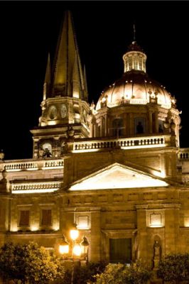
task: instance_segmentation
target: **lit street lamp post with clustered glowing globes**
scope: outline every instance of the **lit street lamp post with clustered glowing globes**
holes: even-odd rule
[[[80,256],[83,255],[85,261],[88,260],[87,254],[88,254],[89,243],[87,241],[87,238],[83,236],[81,243],[78,243],[77,242],[78,236],[79,236],[79,230],[77,229],[77,225],[73,224],[72,229],[70,229],[70,239],[72,240],[71,257],[69,257],[70,244],[65,239],[64,235],[63,235],[63,240],[59,246],[60,253],[63,254],[63,256],[65,256],[66,259],[72,261],[71,284],[73,284],[75,259],[80,260]]]

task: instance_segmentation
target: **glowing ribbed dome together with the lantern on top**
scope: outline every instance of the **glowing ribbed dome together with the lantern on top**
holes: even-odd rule
[[[124,75],[104,89],[96,109],[120,104],[147,104],[151,99],[165,109],[171,108],[171,94],[146,74],[146,55],[134,41],[123,56]]]

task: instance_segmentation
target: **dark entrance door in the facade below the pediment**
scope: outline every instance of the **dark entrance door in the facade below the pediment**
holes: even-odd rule
[[[131,239],[109,239],[109,262],[131,263]]]

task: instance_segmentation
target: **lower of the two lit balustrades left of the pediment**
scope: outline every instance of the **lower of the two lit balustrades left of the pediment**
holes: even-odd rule
[[[60,189],[61,182],[20,182],[11,183],[12,193],[53,192]]]

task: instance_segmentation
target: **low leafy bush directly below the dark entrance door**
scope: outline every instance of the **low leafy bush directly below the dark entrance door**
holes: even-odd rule
[[[151,272],[140,262],[109,264],[104,273],[95,276],[97,284],[143,284],[151,278]]]

